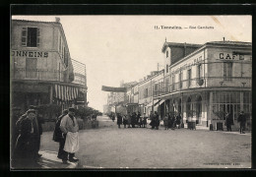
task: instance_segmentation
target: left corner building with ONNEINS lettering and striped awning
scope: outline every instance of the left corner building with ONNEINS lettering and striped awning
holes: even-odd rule
[[[74,66],[84,68],[82,74]],[[12,105],[23,111],[29,105],[58,104],[64,109],[87,103],[86,68],[71,59],[59,18],[12,20],[11,81]]]

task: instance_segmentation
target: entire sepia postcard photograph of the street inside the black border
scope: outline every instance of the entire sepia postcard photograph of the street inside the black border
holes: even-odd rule
[[[10,21],[10,170],[252,167],[251,16]]]

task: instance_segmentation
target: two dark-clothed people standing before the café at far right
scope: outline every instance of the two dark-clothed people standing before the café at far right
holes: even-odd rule
[[[240,134],[245,134],[244,130],[245,130],[245,124],[246,124],[246,117],[244,115],[244,112],[241,111],[239,113],[237,122],[240,125]],[[233,119],[230,113],[226,112],[225,113],[225,126],[226,126],[226,131],[227,132],[231,132],[232,131],[232,125],[233,125]]]

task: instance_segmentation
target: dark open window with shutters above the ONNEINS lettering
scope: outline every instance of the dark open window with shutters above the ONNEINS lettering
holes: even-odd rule
[[[37,28],[23,28],[22,46],[38,47],[40,43],[40,30]]]

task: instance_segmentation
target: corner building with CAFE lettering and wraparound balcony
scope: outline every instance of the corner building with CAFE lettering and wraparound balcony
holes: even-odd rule
[[[162,53],[167,56],[172,47],[165,45]],[[207,42],[169,66],[165,79],[170,83],[154,99],[164,99],[165,110],[181,113],[183,123],[213,124],[216,129],[218,122],[224,123],[224,114],[228,112],[238,128],[238,114],[244,111],[250,128],[251,52],[248,42]]]

